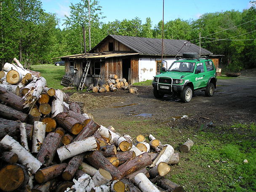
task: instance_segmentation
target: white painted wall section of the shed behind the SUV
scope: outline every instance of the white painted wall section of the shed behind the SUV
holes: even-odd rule
[[[171,66],[173,61],[176,61],[174,58],[163,59],[167,61],[168,68]],[[139,58],[139,82],[145,80],[153,80],[156,75],[157,62],[161,61],[161,58]]]

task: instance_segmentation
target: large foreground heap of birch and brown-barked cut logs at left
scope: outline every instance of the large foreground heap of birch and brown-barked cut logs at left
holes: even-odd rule
[[[121,136],[45,85],[30,86],[24,96],[0,87],[1,105],[7,107],[0,113],[1,191],[184,191],[164,178],[179,163],[171,145],[152,135],[149,142],[142,135]]]

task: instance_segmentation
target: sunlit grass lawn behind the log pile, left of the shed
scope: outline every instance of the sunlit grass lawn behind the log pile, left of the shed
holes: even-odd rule
[[[46,79],[47,86],[54,89],[62,89],[61,79],[65,75],[65,66],[55,66],[53,64],[33,65],[30,67],[33,71],[38,71]]]

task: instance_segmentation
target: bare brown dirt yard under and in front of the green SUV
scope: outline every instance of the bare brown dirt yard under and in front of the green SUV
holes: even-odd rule
[[[71,98],[84,101],[88,113],[101,125],[112,125],[125,130],[126,121],[151,120],[165,123],[173,128],[198,127],[205,123],[231,125],[256,122],[256,69],[241,71],[232,79],[219,79],[213,97],[202,91],[195,92],[189,103],[165,95],[163,99],[153,96],[152,86],[137,86],[137,93],[118,90],[105,93],[74,93]],[[111,122],[111,123],[110,123]]]

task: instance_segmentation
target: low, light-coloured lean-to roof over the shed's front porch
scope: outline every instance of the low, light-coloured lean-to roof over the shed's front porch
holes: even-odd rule
[[[118,52],[115,53],[113,51],[110,52],[102,52],[102,53],[87,53],[87,54],[78,54],[78,55],[68,55],[68,56],[62,56],[57,58],[62,59],[103,59],[103,58],[109,58],[109,57],[120,57],[120,56],[129,56],[129,55],[138,55],[139,53],[131,53],[131,52]],[[53,58],[56,59],[56,58]]]

